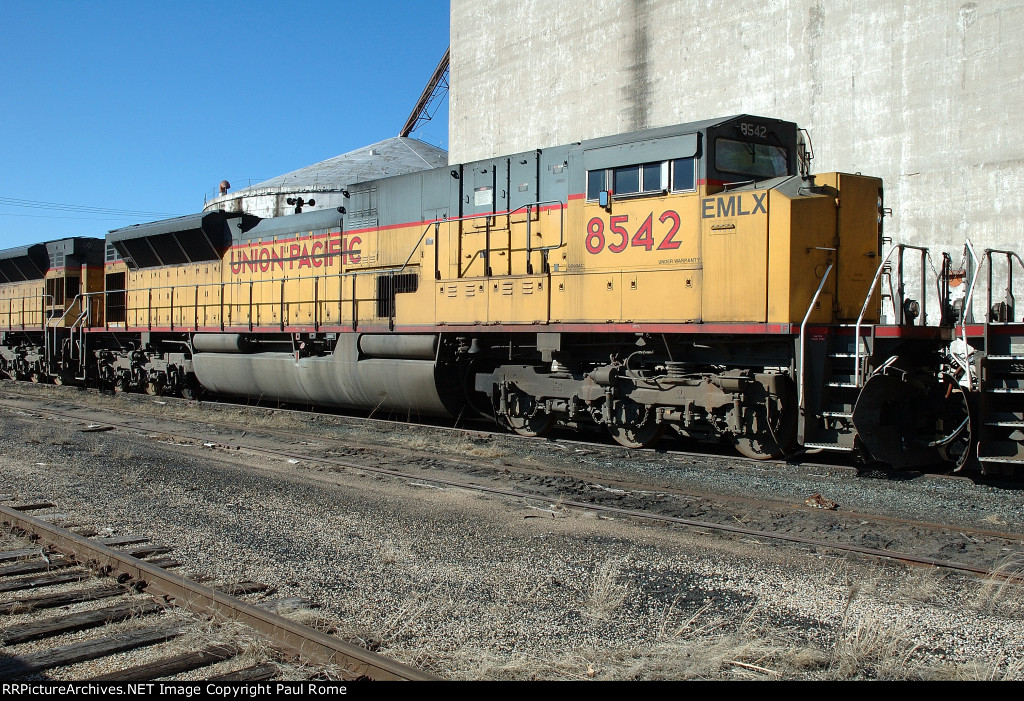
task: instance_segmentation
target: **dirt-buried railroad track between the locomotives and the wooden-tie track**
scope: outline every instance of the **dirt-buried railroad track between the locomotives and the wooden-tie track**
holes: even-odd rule
[[[41,408],[37,408],[34,410],[36,410],[39,413],[48,414],[55,418],[61,418],[67,421],[79,421],[79,422],[88,421],[88,418],[74,412],[57,411],[55,409],[41,409]],[[103,423],[103,426],[110,428],[118,428],[124,431],[151,434],[151,429],[139,427],[137,425],[132,425],[129,423],[106,421]],[[449,431],[449,429],[444,429],[444,431]],[[271,430],[269,431],[269,433],[282,435],[287,432]],[[161,432],[161,435],[165,438],[172,438],[180,441],[191,441],[191,442],[197,441],[197,437],[195,434],[175,433],[174,431],[171,430],[164,430]],[[247,450],[252,453],[262,454],[268,457],[276,457],[284,461],[289,461],[290,463],[293,464],[301,462],[306,464],[314,464],[321,466],[322,468],[327,467],[333,470],[356,470],[381,476],[388,476],[391,478],[403,479],[408,481],[420,481],[420,482],[427,481],[433,484],[443,485],[446,487],[474,490],[482,493],[500,494],[515,499],[522,499],[524,501],[532,501],[532,502],[541,501],[550,503],[552,500],[550,493],[537,493],[537,492],[526,491],[523,489],[513,489],[508,487],[494,486],[492,484],[481,484],[479,480],[451,477],[443,474],[424,475],[424,473],[420,470],[413,472],[409,470],[384,467],[383,465],[381,465],[381,463],[390,461],[384,461],[382,458],[379,446],[378,450],[372,453],[372,459],[361,459],[359,462],[356,462],[351,458],[343,459],[328,454],[323,454],[324,452],[323,445],[324,444],[330,445],[331,443],[330,439],[324,437],[317,437],[316,442],[321,446],[319,448],[317,448],[316,446],[306,446],[308,447],[308,449],[300,449],[302,446],[299,444],[308,441],[298,440],[299,438],[302,437],[302,434],[292,434],[292,436],[296,440],[293,441],[294,446],[288,449],[283,449],[280,447],[268,447],[265,444],[260,445],[253,441],[223,440],[222,438],[210,438],[209,440],[204,441],[204,445],[206,445],[207,447],[223,447],[230,450]],[[305,437],[309,438],[308,435],[306,435]],[[516,438],[514,437],[506,436],[506,438],[516,440]],[[351,444],[346,443],[346,448],[351,448]],[[590,444],[587,444],[586,449],[587,450],[607,449],[609,452],[614,452],[616,454],[621,454],[624,452],[624,449],[613,446],[607,446],[605,448]],[[330,452],[330,450],[328,450],[327,452]],[[458,461],[455,459],[453,462],[458,462]],[[479,464],[475,462],[467,462],[467,465],[472,465],[474,470],[480,469]],[[762,465],[763,467],[763,464],[759,465]],[[488,469],[484,468],[484,470]],[[499,470],[501,469],[490,468],[489,472],[494,473],[498,472]],[[529,468],[521,464],[517,464],[515,466],[515,470],[531,472],[534,476],[538,477],[544,475],[550,476],[551,474],[550,470],[542,470],[536,467]],[[504,469],[504,471],[507,472],[508,469]],[[579,479],[581,475],[577,474],[574,479]],[[595,479],[597,476],[583,475],[583,477],[585,479]],[[618,486],[611,487],[610,485],[618,485]],[[606,475],[604,476],[603,484],[600,485],[600,487],[606,491],[618,491],[618,492],[625,492],[627,490],[632,490],[636,492],[650,492],[652,490],[650,484],[637,484],[635,482],[628,482],[628,481],[616,482],[614,480],[608,480]],[[665,487],[656,487],[654,489],[657,492],[659,492],[659,494],[670,494],[676,497],[698,498],[698,499],[714,498],[721,501],[732,502],[734,505],[735,503],[742,505],[743,507],[746,508],[758,508],[769,511],[793,510],[792,503],[783,503],[768,499],[754,499],[754,498],[730,496],[724,494],[714,494],[710,492],[696,492],[693,490],[689,491],[678,490]],[[822,499],[822,501],[827,501],[827,499]],[[733,535],[742,536],[746,538],[756,538],[759,540],[774,540],[774,541],[798,543],[800,545],[810,546],[812,549],[822,549],[830,552],[857,553],[872,558],[896,560],[905,563],[940,567],[944,569],[975,573],[983,576],[1006,577],[1014,580],[1020,579],[1019,574],[1016,573],[1005,574],[997,571],[997,568],[993,568],[991,566],[987,566],[985,564],[980,564],[977,562],[972,563],[972,562],[951,560],[948,558],[935,557],[932,555],[923,555],[920,553],[914,553],[912,551],[898,551],[887,547],[864,546],[853,542],[843,542],[837,540],[836,538],[810,537],[807,535],[802,535],[798,532],[780,532],[778,530],[770,530],[765,528],[745,527],[741,523],[737,522],[738,519],[733,519],[733,522],[727,522],[723,521],[722,519],[718,521],[713,521],[709,519],[686,518],[666,513],[657,513],[655,509],[650,509],[650,508],[630,509],[630,508],[610,506],[607,503],[598,503],[595,502],[594,500],[584,501],[571,498],[560,498],[558,500],[558,506],[561,509],[589,511],[594,513],[600,513],[604,516],[629,517],[632,519],[638,519],[647,522],[674,524],[678,526],[696,528],[711,532],[730,533]],[[818,518],[818,515],[823,510],[820,509],[820,507],[822,506],[821,503],[816,503],[811,506],[819,507],[818,509],[813,509],[811,507],[808,507],[807,509],[804,510],[804,512],[806,512],[807,519],[811,521],[809,529],[813,530],[815,528],[813,521]],[[552,515],[554,515],[553,512]],[[927,523],[922,521],[914,521],[912,519],[900,519],[894,517],[880,517],[878,515],[867,515],[867,514],[859,514],[853,512],[846,512],[843,514],[843,516],[847,520],[859,520],[862,523],[864,522],[863,519],[869,519],[882,524],[903,524],[907,526],[913,526],[915,528],[928,528],[932,530],[942,529],[945,531],[956,533],[959,536],[973,539],[975,541],[981,538],[987,538],[991,539],[996,545],[1002,546],[1004,550],[1011,550],[1011,549],[1019,550],[1021,544],[1024,543],[1024,535],[1014,532],[1004,532],[993,529],[982,529],[982,528],[951,527],[946,524]],[[805,528],[805,530],[807,530],[807,528]],[[1007,546],[1007,544],[1009,544],[1009,546]]]

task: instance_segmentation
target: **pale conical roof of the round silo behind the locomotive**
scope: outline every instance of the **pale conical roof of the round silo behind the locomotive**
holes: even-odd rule
[[[446,165],[447,151],[443,148],[419,139],[394,136],[234,190],[229,196],[336,190],[354,182]]]

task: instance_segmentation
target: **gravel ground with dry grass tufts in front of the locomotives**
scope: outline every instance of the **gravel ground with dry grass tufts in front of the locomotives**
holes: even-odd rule
[[[71,396],[66,388],[37,391],[51,403]],[[563,483],[545,484],[515,466],[532,462],[552,474],[585,469],[679,489],[700,485],[730,498],[760,495],[780,503],[820,492],[844,509],[927,519],[952,531],[1019,530],[1019,489],[799,466],[769,472],[726,457],[675,458],[666,473],[652,453],[609,461],[600,449],[496,448],[493,439],[467,443],[440,430],[411,438],[390,428],[262,409],[161,405],[145,397],[71,399],[91,402],[97,417],[128,408],[136,419],[163,412],[168,422],[241,418],[251,438],[274,427],[305,431],[309,442],[338,436],[353,447],[332,452],[367,465],[396,461],[388,446],[425,441],[431,458],[411,468],[424,475],[420,481],[160,436],[79,433],[80,424],[0,409],[0,492],[50,499],[77,519],[173,544],[189,570],[306,597],[321,606],[317,624],[443,677],[1024,678],[1020,586],[597,517],[562,508]],[[381,447],[375,452],[373,445]],[[456,457],[486,467],[480,480],[529,483],[550,490],[551,500],[426,479],[465,472],[465,466],[445,468]],[[496,473],[496,465],[504,471]],[[598,493],[618,497],[607,488]],[[703,503],[697,508],[709,510]],[[733,518],[759,513],[742,508]],[[844,516],[835,518],[842,523]],[[964,552],[961,544],[955,550]],[[989,564],[1020,571],[1020,541],[1000,550]]]

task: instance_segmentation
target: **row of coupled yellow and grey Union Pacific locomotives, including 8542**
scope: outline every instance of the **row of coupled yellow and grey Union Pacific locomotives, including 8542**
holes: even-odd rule
[[[879,179],[808,165],[797,125],[743,115],[354,182],[328,210],[11,249],[0,370],[630,447],[1024,461],[1024,324],[1010,286],[991,299],[1020,258],[933,274],[887,246]]]

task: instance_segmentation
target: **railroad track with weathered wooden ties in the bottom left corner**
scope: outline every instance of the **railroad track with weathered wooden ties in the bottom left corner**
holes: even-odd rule
[[[66,515],[30,515],[52,507],[49,502],[18,505],[9,496],[0,497],[0,521],[5,531],[22,539],[20,546],[0,552],[0,594],[8,593],[0,597],[0,644],[6,648],[0,650],[0,678],[20,678],[166,643],[184,636],[189,625],[195,627],[195,622],[186,624],[180,615],[172,615],[182,611],[207,624],[230,621],[247,626],[285,659],[307,666],[307,673],[330,670],[324,678],[433,678],[282,615],[282,602],[255,605],[240,598],[263,592],[265,585],[239,582],[222,588],[209,586],[171,572],[178,563],[168,557],[169,549],[150,544],[145,538],[87,537],[50,522]],[[52,614],[61,607],[78,605],[88,608]],[[33,617],[26,620],[30,612]],[[36,641],[62,640],[60,637],[85,630],[90,631],[85,639],[20,652],[22,647]],[[231,644],[209,644],[99,674],[93,681],[167,677],[240,653]],[[280,673],[278,665],[264,662],[208,678],[255,682]]]

